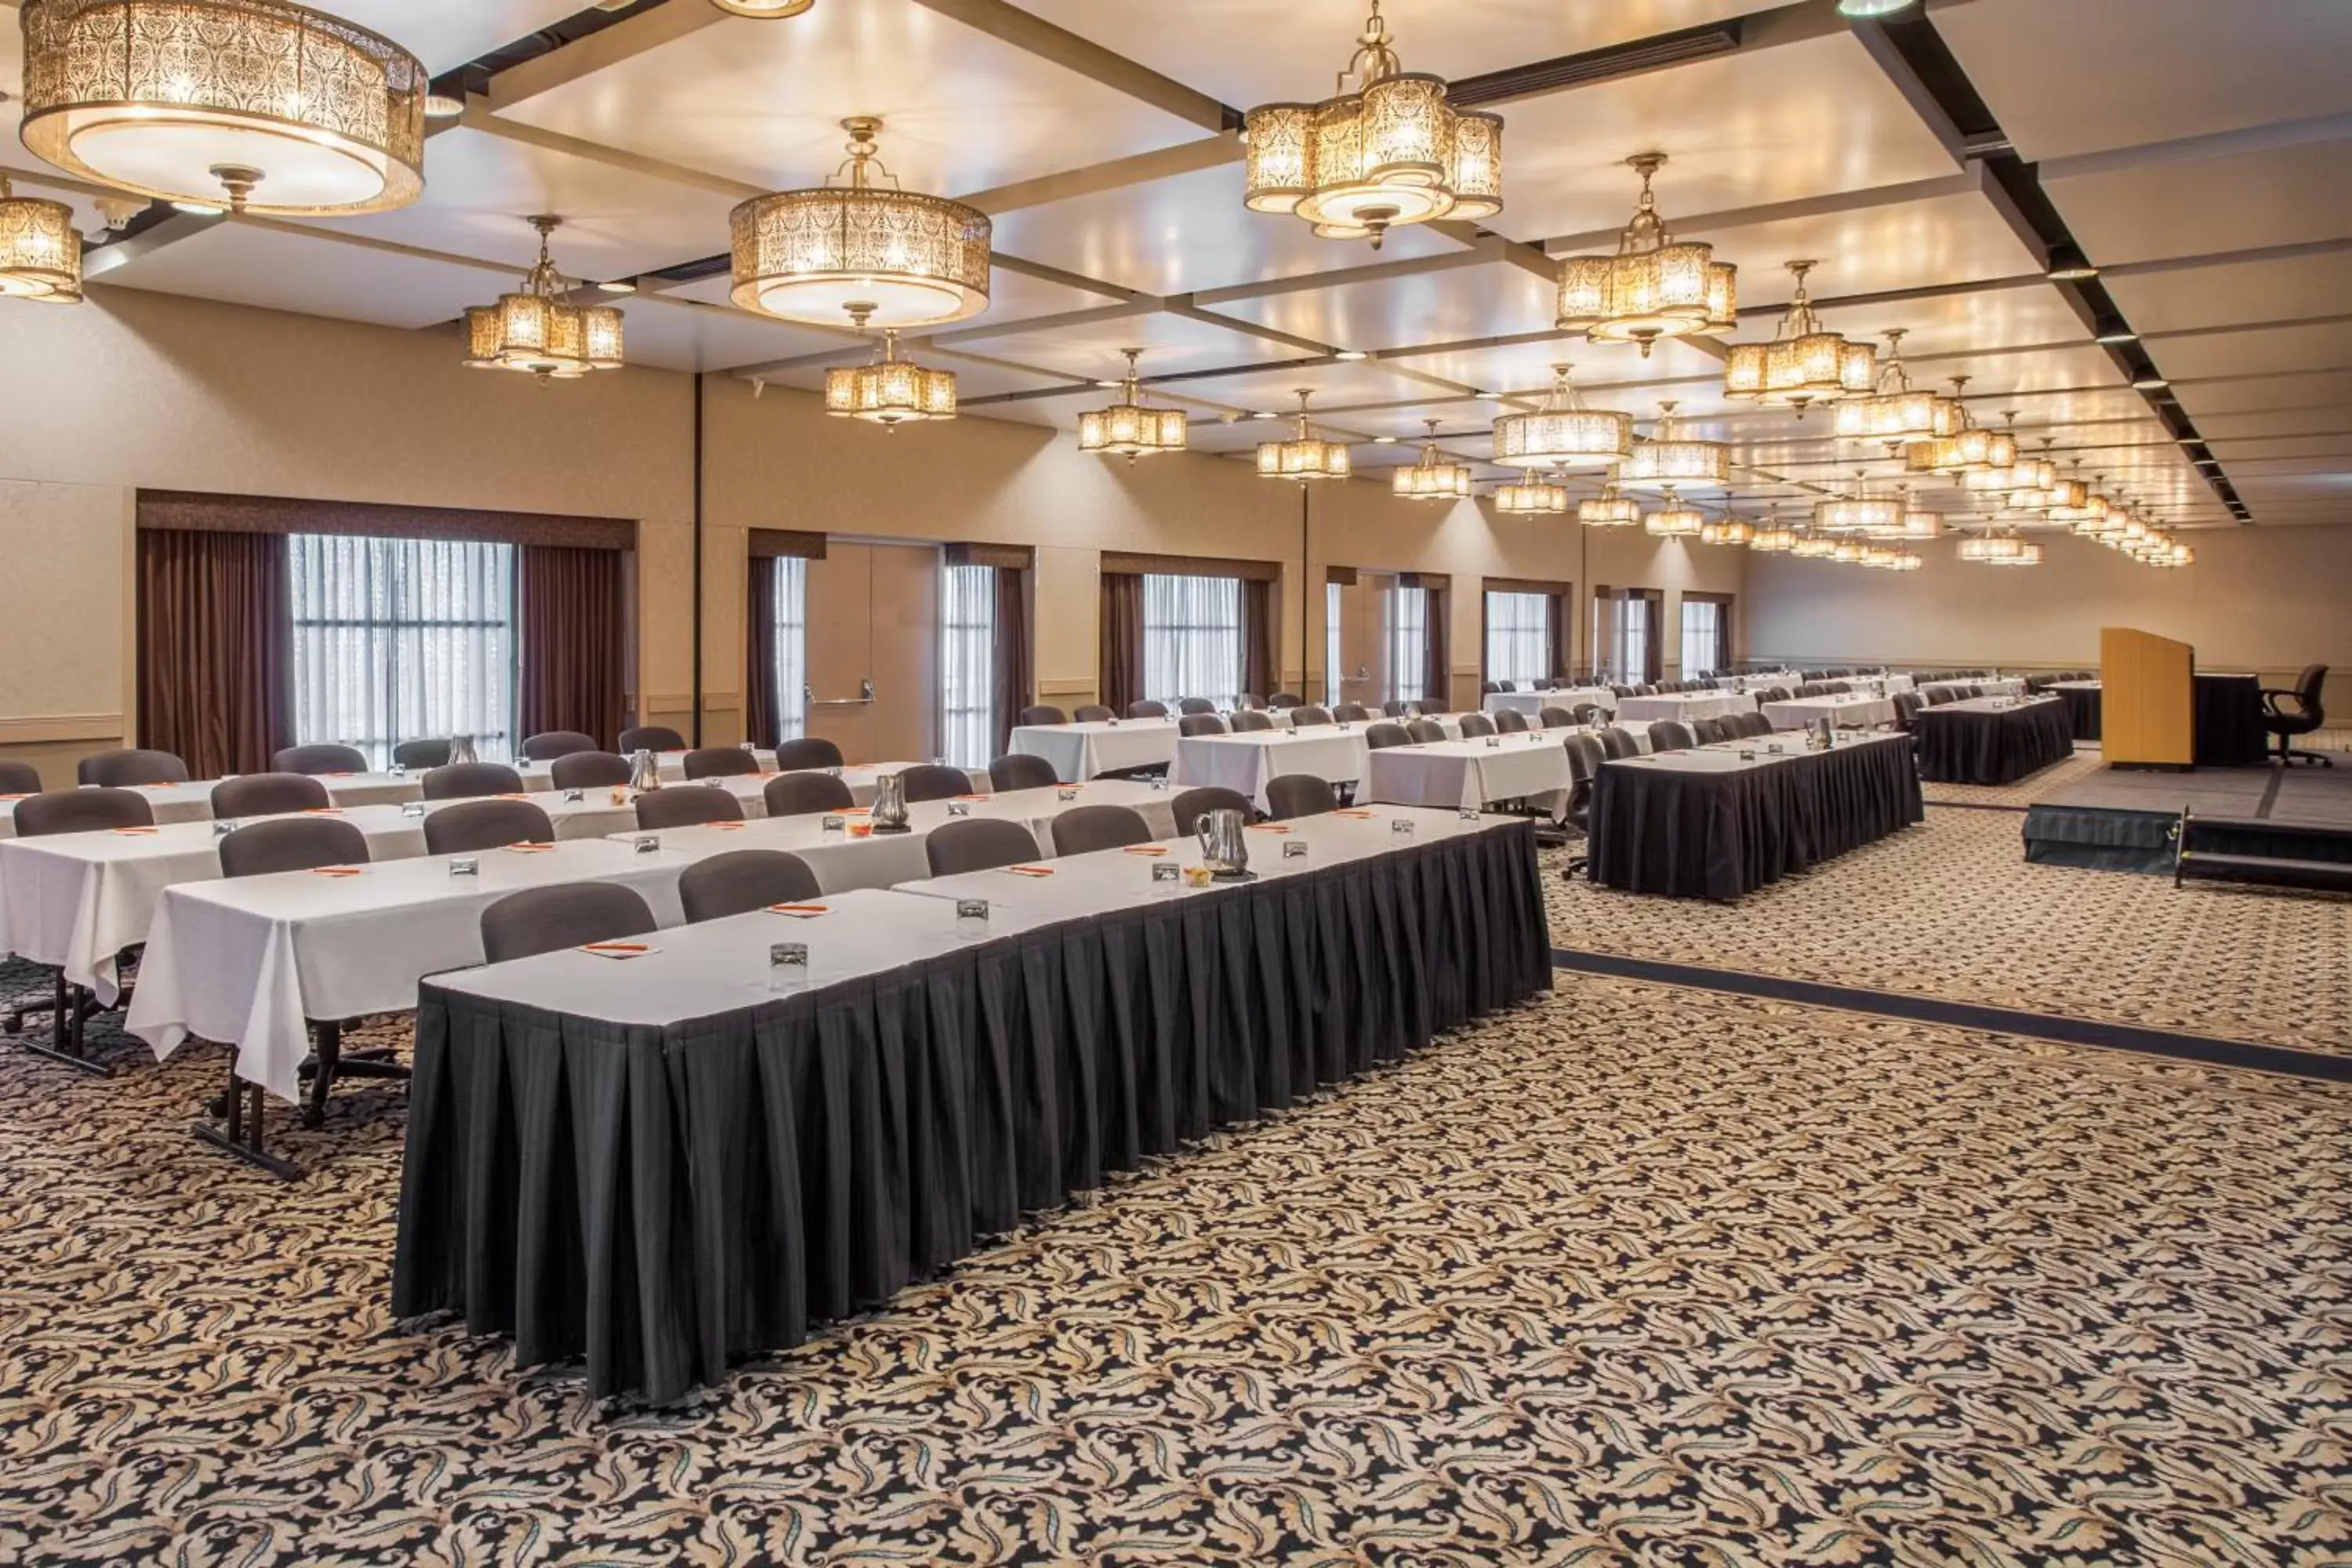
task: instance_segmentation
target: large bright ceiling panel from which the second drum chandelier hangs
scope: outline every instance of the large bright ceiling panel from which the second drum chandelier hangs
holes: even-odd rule
[[[880,115],[889,172],[936,195],[1204,134],[915,0],[722,19],[501,113],[767,188],[823,181],[842,162],[840,122]]]

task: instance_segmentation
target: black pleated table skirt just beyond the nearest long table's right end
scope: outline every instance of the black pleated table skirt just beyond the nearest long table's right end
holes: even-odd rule
[[[1849,741],[1726,773],[1602,764],[1592,882],[1670,898],[1738,898],[1926,820],[1907,736]]]

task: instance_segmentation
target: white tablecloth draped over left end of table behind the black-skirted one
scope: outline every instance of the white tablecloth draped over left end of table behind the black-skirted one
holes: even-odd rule
[[[557,882],[621,882],[654,919],[675,926],[670,851],[569,839],[477,856],[452,877],[447,856],[388,860],[360,877],[242,877],[165,891],[148,929],[129,1032],[169,1056],[198,1034],[238,1046],[238,1077],[294,1100],[310,1051],[310,1018],[358,1018],[416,1006],[416,980],[482,961],[482,910],[506,893]],[[609,959],[607,959],[609,961]]]

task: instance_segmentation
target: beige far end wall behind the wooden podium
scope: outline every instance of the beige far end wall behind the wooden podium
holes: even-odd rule
[[[2042,536],[2042,567],[1966,567],[1955,545],[1905,576],[1757,557],[1748,569],[1748,649],[1797,663],[2089,668],[2098,630],[2131,625],[2187,642],[2209,670],[2284,684],[2303,665],[2336,670],[2352,712],[2352,524],[2199,529],[2197,564],[2138,567],[2105,545]]]

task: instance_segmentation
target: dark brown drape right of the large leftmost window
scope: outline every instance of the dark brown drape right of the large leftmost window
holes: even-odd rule
[[[576,729],[619,745],[626,722],[626,604],[619,550],[520,545],[522,733]]]

